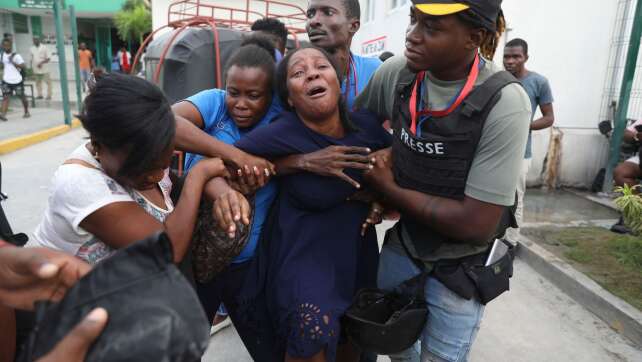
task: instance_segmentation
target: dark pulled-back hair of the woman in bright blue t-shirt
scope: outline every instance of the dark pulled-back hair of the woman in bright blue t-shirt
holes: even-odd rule
[[[276,68],[274,56],[274,44],[261,36],[248,36],[241,43],[227,63],[225,63],[225,75],[233,66],[240,68],[261,68],[268,76],[270,91],[274,87],[274,73]]]

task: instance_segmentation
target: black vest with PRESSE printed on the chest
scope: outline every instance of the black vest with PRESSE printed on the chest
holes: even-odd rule
[[[476,86],[452,113],[426,120],[421,136],[416,137],[410,132],[408,107],[415,77],[407,70],[402,72],[395,89],[392,122],[395,181],[403,188],[461,200],[486,118],[499,101],[501,90],[519,81],[506,71],[494,74]],[[517,226],[514,207],[506,208],[504,214],[495,237],[503,236],[508,227]],[[401,223],[419,257],[428,256],[444,243],[461,243],[408,217],[403,217]]]

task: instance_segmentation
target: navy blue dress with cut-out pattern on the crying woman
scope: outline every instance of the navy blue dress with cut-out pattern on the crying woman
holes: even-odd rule
[[[332,145],[388,147],[390,135],[374,115],[351,113],[357,131],[337,139],[307,128],[293,113],[252,131],[236,146],[268,159]],[[346,170],[361,183],[362,172]],[[361,236],[369,205],[347,201],[357,189],[334,177],[297,173],[279,178],[279,193],[250,267],[241,305],[257,323],[257,341],[274,345],[270,358],[311,357],[324,348],[333,361],[340,318],[357,290],[376,286],[374,228]],[[254,314],[254,315],[252,315]],[[255,357],[256,358],[256,357]]]

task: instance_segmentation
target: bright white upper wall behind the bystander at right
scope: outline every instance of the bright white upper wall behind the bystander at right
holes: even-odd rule
[[[507,38],[529,44],[529,69],[553,88],[559,127],[595,128],[615,23],[615,0],[506,0]],[[502,44],[503,45],[503,44]],[[503,47],[495,57],[501,61]]]

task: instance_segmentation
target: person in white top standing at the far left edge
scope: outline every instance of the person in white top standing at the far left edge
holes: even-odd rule
[[[15,94],[22,100],[22,106],[25,109],[22,118],[31,117],[29,114],[29,104],[25,97],[24,79],[21,74],[21,71],[25,67],[25,61],[20,54],[13,53],[11,49],[11,40],[5,38],[2,41],[2,53],[0,53],[0,60],[4,68],[2,74],[2,112],[0,112],[0,121],[5,122],[7,121],[6,115],[9,109],[9,99],[12,94]]]

